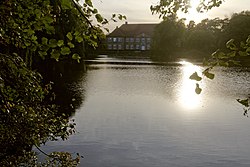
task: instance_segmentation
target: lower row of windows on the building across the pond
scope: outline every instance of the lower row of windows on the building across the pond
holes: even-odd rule
[[[109,44],[108,45],[109,50],[150,50],[150,44],[145,45],[125,45],[125,48],[123,45],[119,44]]]

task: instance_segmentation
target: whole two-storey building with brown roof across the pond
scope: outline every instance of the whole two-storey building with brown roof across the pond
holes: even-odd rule
[[[110,51],[150,50],[152,35],[157,24],[128,24],[117,27],[107,35],[107,49]]]

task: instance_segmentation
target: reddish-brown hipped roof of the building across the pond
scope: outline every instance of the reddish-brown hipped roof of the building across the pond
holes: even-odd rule
[[[145,34],[145,36],[152,36],[154,28],[157,24],[128,24],[125,23],[121,27],[117,27],[108,36],[110,37],[126,37],[126,36],[139,36]]]

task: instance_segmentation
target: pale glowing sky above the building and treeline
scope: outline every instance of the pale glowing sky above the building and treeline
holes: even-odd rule
[[[126,21],[131,24],[161,22],[158,15],[152,15],[150,11],[150,6],[156,4],[158,1],[159,0],[92,0],[94,6],[104,17],[110,18],[113,13],[123,14],[127,17]],[[192,4],[195,5],[199,0],[191,1]],[[192,8],[189,14],[180,14],[179,17],[185,17],[187,23],[190,20],[199,23],[205,18],[230,17],[233,13],[243,10],[250,10],[250,0],[225,0],[220,7],[213,8],[207,13],[198,14],[195,8]],[[118,21],[117,23],[111,22],[108,28],[112,31],[116,26],[121,26],[124,23],[125,21]]]

